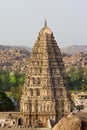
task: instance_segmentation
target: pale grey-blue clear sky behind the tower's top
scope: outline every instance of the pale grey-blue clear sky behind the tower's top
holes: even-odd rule
[[[0,44],[32,48],[45,18],[60,48],[87,45],[87,0],[0,0]]]

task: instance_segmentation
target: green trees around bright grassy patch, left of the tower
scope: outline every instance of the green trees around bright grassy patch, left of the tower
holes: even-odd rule
[[[17,88],[22,86],[24,76],[18,70],[14,74],[10,74],[8,71],[0,69],[0,90],[10,91],[11,87]]]

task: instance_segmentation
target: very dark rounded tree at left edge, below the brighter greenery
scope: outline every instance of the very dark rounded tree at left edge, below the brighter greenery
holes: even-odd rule
[[[14,110],[14,104],[4,92],[0,92],[0,111]]]

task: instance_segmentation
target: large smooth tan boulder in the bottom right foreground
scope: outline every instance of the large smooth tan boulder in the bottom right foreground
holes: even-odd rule
[[[87,130],[87,118],[68,115],[63,117],[52,130]]]

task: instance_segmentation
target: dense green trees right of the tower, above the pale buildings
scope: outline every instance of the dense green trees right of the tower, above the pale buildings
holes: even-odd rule
[[[70,72],[67,73],[67,81],[70,90],[87,90],[87,69],[78,69],[77,71],[74,68],[71,68]]]

